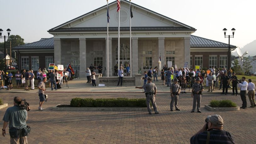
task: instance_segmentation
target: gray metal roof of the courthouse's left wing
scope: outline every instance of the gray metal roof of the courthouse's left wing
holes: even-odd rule
[[[42,38],[40,41],[37,42],[32,42],[32,43],[28,43],[25,45],[21,45],[21,46],[17,46],[14,47],[13,50],[18,50],[18,49],[34,49],[34,48],[44,48],[44,49],[48,49],[48,48],[54,48],[54,39],[53,37],[51,38]]]

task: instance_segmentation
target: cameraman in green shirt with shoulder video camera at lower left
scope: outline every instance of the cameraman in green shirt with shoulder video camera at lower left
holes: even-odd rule
[[[26,120],[28,119],[27,110],[20,108],[21,98],[14,97],[14,106],[7,108],[3,117],[3,129],[2,135],[6,134],[6,127],[9,122],[9,133],[10,133],[10,143],[28,143],[25,128],[27,128]]]

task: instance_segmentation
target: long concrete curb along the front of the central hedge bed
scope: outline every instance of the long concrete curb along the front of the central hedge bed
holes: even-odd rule
[[[62,105],[62,104],[58,104]],[[56,105],[52,108],[53,111],[138,111],[145,112],[147,108],[58,108]],[[154,109],[151,108],[152,112]]]

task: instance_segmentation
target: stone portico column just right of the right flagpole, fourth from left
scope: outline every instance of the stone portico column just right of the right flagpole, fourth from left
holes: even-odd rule
[[[131,64],[131,70],[132,75],[138,74],[138,38],[132,37],[132,64]]]

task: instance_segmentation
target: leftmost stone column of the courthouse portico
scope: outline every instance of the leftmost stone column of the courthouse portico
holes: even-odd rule
[[[54,63],[61,64],[61,40],[54,38]]]

